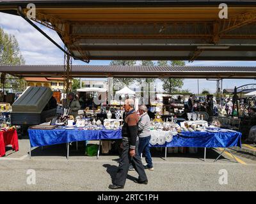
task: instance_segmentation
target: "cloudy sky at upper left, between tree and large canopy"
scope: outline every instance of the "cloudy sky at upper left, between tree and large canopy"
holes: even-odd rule
[[[4,32],[15,36],[26,64],[63,64],[63,52],[23,18],[0,13],[0,26],[3,27]],[[42,25],[39,26],[63,47],[55,31]]]

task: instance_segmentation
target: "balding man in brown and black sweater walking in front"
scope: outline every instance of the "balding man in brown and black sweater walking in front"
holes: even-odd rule
[[[126,99],[124,103],[125,118],[122,128],[122,156],[120,158],[118,171],[116,173],[113,184],[109,185],[109,189],[123,189],[125,180],[129,170],[129,164],[132,163],[134,169],[139,174],[139,178],[134,182],[137,184],[148,184],[147,175],[144,166],[141,163],[141,158],[138,154],[138,114],[134,110],[134,100]]]

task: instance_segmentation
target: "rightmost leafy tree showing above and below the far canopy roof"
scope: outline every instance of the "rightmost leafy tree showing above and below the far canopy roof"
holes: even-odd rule
[[[158,66],[168,66],[168,61],[157,61]],[[171,66],[184,66],[184,61],[171,61]],[[163,78],[161,79],[163,82],[163,89],[169,94],[172,92],[177,92],[182,88],[183,80],[180,78]]]

